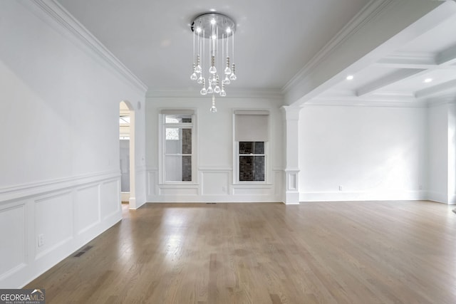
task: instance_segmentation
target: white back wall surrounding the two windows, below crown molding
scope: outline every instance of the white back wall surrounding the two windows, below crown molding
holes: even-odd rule
[[[217,113],[209,112],[211,99],[150,97],[146,100],[147,201],[281,201],[283,184],[283,118],[281,98],[217,98]],[[158,117],[161,108],[192,108],[197,112],[197,174],[195,184],[165,185],[159,179]],[[233,184],[233,111],[270,111],[270,183]]]

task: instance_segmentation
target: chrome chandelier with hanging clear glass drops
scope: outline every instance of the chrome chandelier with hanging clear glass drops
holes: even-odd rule
[[[212,95],[210,111],[217,112],[215,95],[226,96],[226,86],[237,78],[234,70],[236,23],[223,14],[207,13],[197,16],[190,27],[193,32],[193,71],[190,79],[202,86],[201,95]]]

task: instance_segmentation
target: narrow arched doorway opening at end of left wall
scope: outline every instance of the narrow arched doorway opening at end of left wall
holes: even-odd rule
[[[119,105],[119,154],[120,198],[135,209],[135,111],[125,100]]]

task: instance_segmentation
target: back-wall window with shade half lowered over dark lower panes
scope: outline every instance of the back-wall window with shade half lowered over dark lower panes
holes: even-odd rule
[[[266,182],[269,111],[235,111],[234,141],[237,163],[235,182]]]

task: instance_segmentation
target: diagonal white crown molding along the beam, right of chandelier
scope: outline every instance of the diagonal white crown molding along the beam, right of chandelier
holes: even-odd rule
[[[326,43],[323,48],[321,48],[316,55],[311,58],[311,60],[304,65],[301,70],[299,70],[296,75],[293,76],[282,88],[283,93],[288,93],[291,88],[294,87],[297,83],[311,72],[322,62],[324,59],[331,54],[333,51],[338,48],[342,43],[344,43],[348,38],[358,33],[358,31],[363,28],[369,21],[371,21],[375,16],[378,16],[382,11],[385,11],[388,6],[394,4],[395,0],[372,0],[366,6],[363,7],[361,11],[356,14],[356,16],[349,21],[346,26],[344,26],[341,31],[338,31],[333,38]]]

